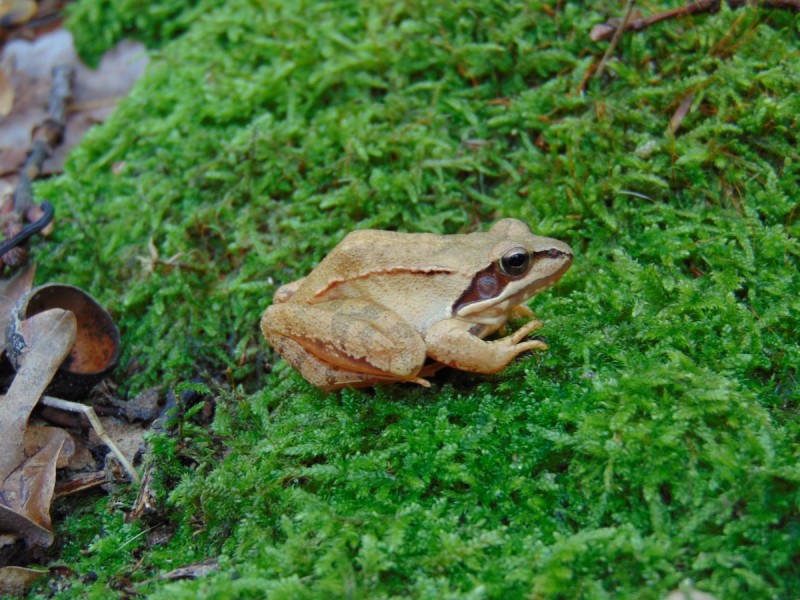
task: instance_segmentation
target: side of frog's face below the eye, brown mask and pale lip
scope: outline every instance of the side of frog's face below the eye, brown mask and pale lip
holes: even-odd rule
[[[530,270],[519,279],[504,274],[496,263],[478,272],[453,303],[453,314],[469,321],[502,324],[511,308],[558,283],[572,265],[573,255],[551,248],[533,252],[531,259]],[[512,283],[520,285],[510,285]]]

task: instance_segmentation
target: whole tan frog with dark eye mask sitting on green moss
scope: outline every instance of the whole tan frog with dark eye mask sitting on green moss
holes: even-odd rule
[[[547,348],[524,339],[542,323],[483,338],[512,315],[532,317],[522,303],[571,262],[567,244],[517,219],[459,235],[354,231],[307,277],[278,289],[261,330],[324,390],[428,385],[442,366],[496,373],[521,352]]]

